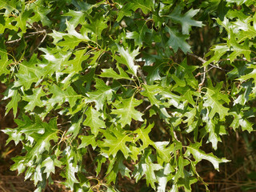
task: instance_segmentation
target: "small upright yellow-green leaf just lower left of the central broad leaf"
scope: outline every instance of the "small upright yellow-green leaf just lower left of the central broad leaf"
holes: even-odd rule
[[[83,122],[84,126],[90,126],[92,134],[97,136],[99,128],[106,128],[105,122],[102,120],[102,114],[94,110],[92,106],[86,110],[86,120]]]

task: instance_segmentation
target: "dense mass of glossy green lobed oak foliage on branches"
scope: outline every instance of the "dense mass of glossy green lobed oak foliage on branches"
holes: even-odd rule
[[[119,178],[190,191],[198,162],[229,161],[202,145],[254,130],[255,6],[0,0],[0,79],[18,125],[3,131],[23,146],[11,169],[36,191],[56,174],[74,191],[118,191]]]

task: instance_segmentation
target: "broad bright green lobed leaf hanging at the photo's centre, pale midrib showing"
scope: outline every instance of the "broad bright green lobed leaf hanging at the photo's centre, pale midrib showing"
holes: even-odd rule
[[[122,99],[122,101],[116,101],[113,103],[116,110],[112,110],[111,114],[118,115],[117,118],[120,118],[118,119],[118,122],[120,122],[122,126],[126,126],[127,124],[130,126],[132,119],[143,122],[143,114],[134,109],[135,106],[138,106],[141,103],[142,100],[137,100],[134,97]]]

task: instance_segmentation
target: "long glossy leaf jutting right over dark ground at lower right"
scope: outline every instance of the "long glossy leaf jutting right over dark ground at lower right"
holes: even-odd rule
[[[229,162],[229,160],[226,160],[226,158],[216,158],[212,153],[206,154],[203,150],[199,149],[200,146],[201,143],[199,142],[192,143],[190,146],[186,146],[186,155],[193,154],[196,162],[201,162],[202,159],[211,162],[215,170],[218,170],[219,163]]]

